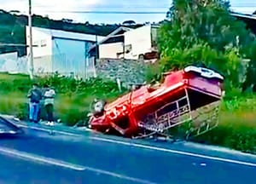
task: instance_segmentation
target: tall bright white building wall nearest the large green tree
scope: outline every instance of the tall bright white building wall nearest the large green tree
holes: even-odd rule
[[[137,60],[139,55],[150,52],[151,26],[142,26],[130,32],[125,32],[125,47],[131,46],[131,52],[125,58]]]

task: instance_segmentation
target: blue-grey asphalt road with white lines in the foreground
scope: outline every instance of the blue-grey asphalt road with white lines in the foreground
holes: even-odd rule
[[[255,183],[256,157],[192,143],[25,129],[0,137],[0,183]]]

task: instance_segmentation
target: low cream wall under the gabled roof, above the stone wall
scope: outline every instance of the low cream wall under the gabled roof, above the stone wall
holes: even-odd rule
[[[123,43],[105,43],[99,45],[99,57],[117,59],[118,53],[122,53],[124,50]]]

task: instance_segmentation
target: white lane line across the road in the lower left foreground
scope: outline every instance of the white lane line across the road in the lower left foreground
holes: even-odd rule
[[[130,177],[130,176],[127,176],[127,175],[120,175],[118,173],[109,172],[108,170],[99,170],[99,169],[96,169],[96,168],[86,167],[86,166],[79,165],[79,164],[71,164],[71,163],[67,163],[65,161],[58,160],[58,159],[55,159],[55,158],[46,158],[46,157],[39,156],[39,155],[36,155],[36,154],[32,154],[32,153],[29,153],[29,152],[20,152],[18,150],[9,149],[9,148],[6,148],[6,147],[0,147],[0,154],[6,155],[8,157],[12,156],[12,157],[15,157],[15,158],[25,159],[25,160],[28,160],[30,162],[35,162],[35,163],[51,164],[51,165],[67,168],[67,169],[70,169],[70,170],[77,170],[77,171],[88,170],[88,171],[98,173],[98,174],[102,174],[102,175],[110,175],[112,177],[116,177],[116,178],[126,180],[126,181],[134,181],[134,182],[142,183],[142,184],[156,184],[156,183],[151,182],[151,181],[146,181],[146,180],[143,180],[143,179],[138,179],[138,178]]]

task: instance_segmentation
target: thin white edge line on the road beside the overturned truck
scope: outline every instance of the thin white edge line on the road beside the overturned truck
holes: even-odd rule
[[[243,161],[229,159],[229,158],[212,157],[212,156],[197,154],[197,153],[193,153],[193,152],[177,151],[177,150],[172,150],[172,149],[166,149],[164,147],[151,147],[151,146],[147,146],[147,145],[143,145],[143,144],[131,143],[131,142],[126,142],[126,141],[116,141],[116,140],[105,139],[105,138],[101,138],[101,137],[90,137],[90,139],[96,140],[96,141],[111,142],[111,143],[115,143],[115,144],[129,146],[129,147],[139,147],[139,148],[143,148],[143,149],[149,149],[149,150],[160,151],[160,152],[171,152],[171,153],[185,155],[185,156],[189,156],[189,157],[206,158],[209,160],[221,161],[221,162],[230,163],[230,164],[240,164],[240,165],[256,167],[256,163],[243,162]]]

